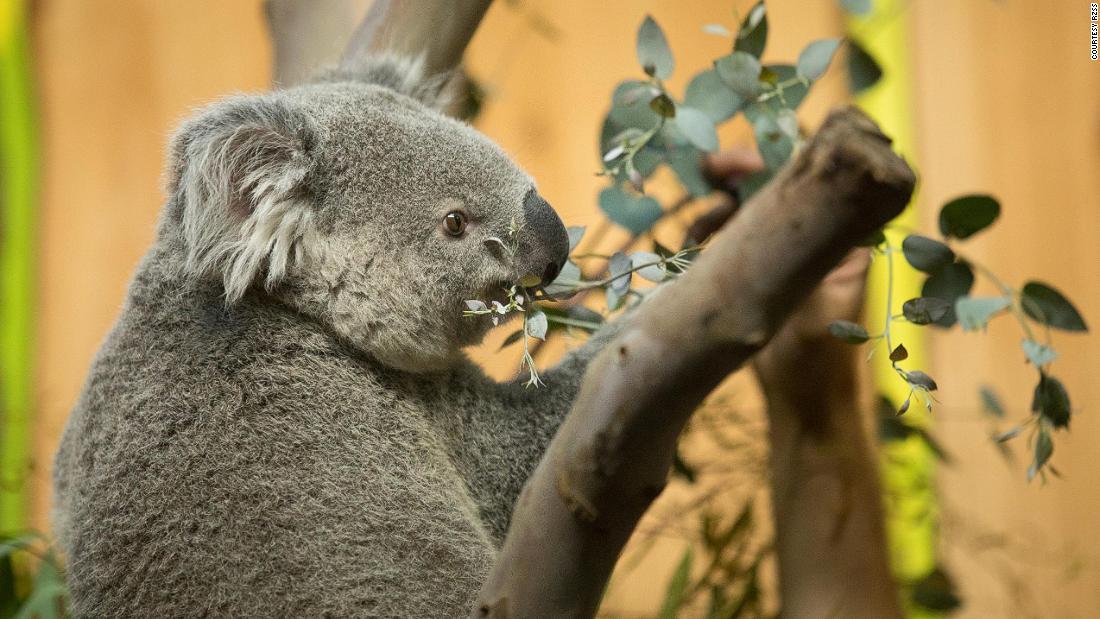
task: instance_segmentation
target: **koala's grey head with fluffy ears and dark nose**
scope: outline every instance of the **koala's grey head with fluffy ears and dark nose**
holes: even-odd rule
[[[551,281],[569,240],[531,178],[435,108],[413,63],[216,103],[174,139],[162,234],[228,303],[258,292],[378,361],[446,367],[491,323],[468,299]]]

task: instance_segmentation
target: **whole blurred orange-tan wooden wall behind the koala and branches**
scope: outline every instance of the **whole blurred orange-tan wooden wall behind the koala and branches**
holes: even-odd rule
[[[724,53],[702,24],[732,25],[730,0],[497,2],[470,66],[491,100],[479,125],[539,180],[566,223],[600,220],[595,137],[613,86],[638,74],[634,31],[652,13],[676,53],[673,90]],[[739,0],[743,11],[750,2]],[[551,23],[538,32],[529,7]],[[836,35],[835,2],[772,0],[769,59],[793,59]],[[1071,290],[1100,327],[1100,65],[1089,60],[1088,2],[912,2],[906,21],[916,92],[920,207],[927,229],[944,200],[990,191],[1004,214],[970,254],[1008,280],[1038,277]],[[164,145],[190,110],[270,80],[260,0],[38,0],[33,3],[43,187],[36,343],[33,520],[45,528],[48,467],[86,368],[113,321],[131,269],[153,235]],[[843,93],[835,75],[807,102],[814,126]],[[723,133],[744,140],[744,128]],[[1008,321],[988,336],[932,339],[941,406],[935,431],[955,456],[941,469],[943,555],[966,617],[1100,614],[1100,366],[1094,338],[1059,336],[1055,369],[1074,396],[1072,434],[1054,463],[1065,474],[1025,484],[1026,454],[1007,466],[989,445],[977,388],[991,384],[1027,413],[1033,372]],[[484,351],[477,358],[490,360]],[[514,360],[494,357],[497,374]],[[743,380],[748,387],[749,382]],[[751,396],[748,396],[751,399]],[[682,544],[654,551],[610,604],[659,607]]]

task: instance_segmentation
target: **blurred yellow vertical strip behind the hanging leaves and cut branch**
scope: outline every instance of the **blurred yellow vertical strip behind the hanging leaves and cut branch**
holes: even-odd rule
[[[913,67],[908,32],[905,0],[875,0],[869,15],[851,20],[853,38],[875,57],[883,77],[873,88],[857,98],[866,110],[894,141],[894,147],[908,161],[917,161],[913,123]],[[920,228],[914,202],[899,218],[903,228]],[[901,246],[904,233],[887,231],[893,247]],[[921,296],[921,277],[900,255],[893,258],[892,307],[886,303],[888,287],[887,261],[879,257],[871,268],[868,289],[867,322],[872,332],[881,332],[887,316],[901,311],[906,299]],[[902,364],[909,369],[927,369],[925,338],[912,324],[891,325],[894,345],[904,343],[909,358]],[[882,345],[882,344],[880,344]],[[909,395],[909,386],[893,372],[888,352],[879,350],[873,357],[876,388],[894,406]],[[924,407],[915,400],[906,421],[928,423]],[[887,531],[890,538],[891,566],[902,583],[912,583],[926,575],[936,562],[938,526],[935,495],[935,456],[924,441],[910,436],[884,445],[882,462],[883,489],[887,494]],[[910,617],[933,617],[906,603]]]

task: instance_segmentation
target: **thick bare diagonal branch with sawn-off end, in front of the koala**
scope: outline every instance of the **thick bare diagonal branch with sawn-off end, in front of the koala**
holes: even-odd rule
[[[592,616],[624,544],[664,487],[691,412],[856,243],[901,212],[914,183],[867,117],[831,114],[592,362],[520,495],[474,615]]]

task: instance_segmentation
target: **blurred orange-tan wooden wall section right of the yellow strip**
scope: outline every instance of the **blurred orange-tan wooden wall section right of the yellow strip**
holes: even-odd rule
[[[1030,455],[1005,466],[989,446],[977,391],[988,383],[1028,412],[1036,380],[1010,319],[989,334],[935,338],[937,432],[956,464],[941,468],[943,546],[970,598],[967,617],[1100,615],[1100,63],[1089,60],[1088,2],[913,2],[921,199],[966,191],[1001,198],[1002,220],[967,243],[1010,283],[1070,294],[1093,334],[1055,335],[1054,365],[1074,398],[1072,433],[1052,462],[1065,474],[1024,482]],[[994,294],[988,285],[985,294]],[[1005,425],[1007,428],[1007,425]]]

